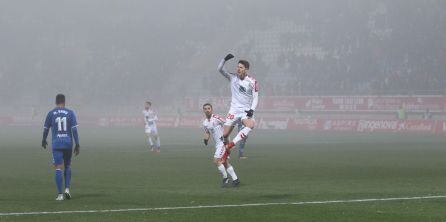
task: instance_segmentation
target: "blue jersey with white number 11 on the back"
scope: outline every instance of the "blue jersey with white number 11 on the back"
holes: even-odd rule
[[[46,116],[44,128],[51,128],[53,149],[72,149],[72,131],[75,127],[77,121],[73,111],[59,107],[51,110]]]

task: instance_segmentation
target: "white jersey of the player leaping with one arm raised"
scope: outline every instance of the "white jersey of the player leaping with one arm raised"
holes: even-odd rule
[[[259,88],[257,81],[251,76],[246,76],[243,80],[235,73],[229,73],[223,69],[225,61],[218,66],[220,73],[231,82],[231,110],[244,112],[245,110],[255,110],[258,103]]]

